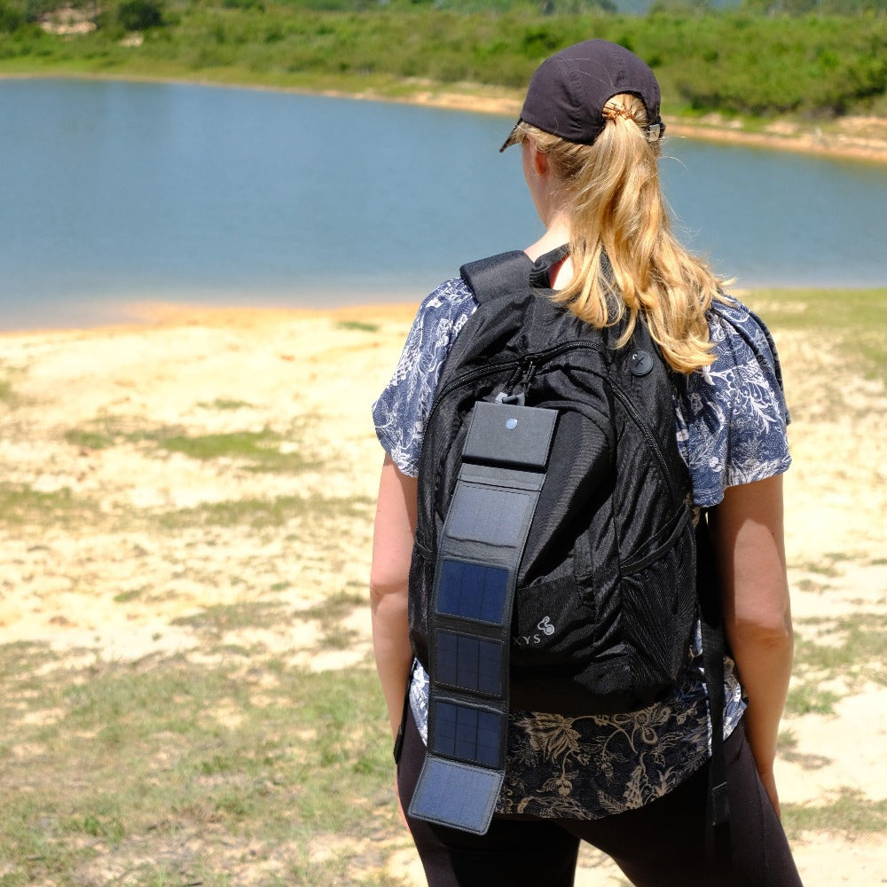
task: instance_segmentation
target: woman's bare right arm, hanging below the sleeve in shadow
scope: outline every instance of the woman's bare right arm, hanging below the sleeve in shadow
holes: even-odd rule
[[[746,732],[773,806],[776,737],[793,651],[782,532],[782,477],[729,487],[710,515],[726,637],[749,697]]]

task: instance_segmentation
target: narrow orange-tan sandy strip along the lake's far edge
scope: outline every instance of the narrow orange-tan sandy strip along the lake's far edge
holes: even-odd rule
[[[447,85],[423,80],[396,81],[399,88],[411,91],[392,94],[385,90],[347,91],[317,89],[298,84],[278,86],[266,83],[226,82],[208,78],[188,78],[162,75],[95,74],[80,72],[42,71],[34,74],[0,72],[0,81],[58,77],[66,80],[100,80],[180,83],[190,86],[216,87],[238,90],[285,92],[294,95],[323,96],[358,101],[390,102],[460,111],[469,114],[493,114],[516,118],[520,114],[522,92],[505,87],[484,86],[478,83]],[[805,124],[788,118],[774,118],[761,122],[761,130],[745,130],[741,121],[729,120],[717,112],[705,114],[698,120],[663,114],[668,137],[695,138],[723,145],[740,145],[774,151],[814,154],[836,160],[867,161],[887,164],[887,117],[848,116],[825,123]]]

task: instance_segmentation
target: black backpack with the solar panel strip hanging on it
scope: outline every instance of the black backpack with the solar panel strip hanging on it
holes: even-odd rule
[[[540,292],[564,255],[461,269],[479,307],[443,367],[420,457],[410,639],[431,693],[411,813],[482,833],[508,710],[654,703],[699,613],[666,366],[641,319],[617,348],[624,326],[593,328]]]

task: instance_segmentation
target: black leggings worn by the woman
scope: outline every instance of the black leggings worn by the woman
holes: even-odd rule
[[[652,804],[601,820],[495,816],[481,837],[409,819],[428,885],[570,887],[579,842],[587,841],[636,887],[801,887],[742,724],[725,743],[725,755],[729,827],[713,829],[705,815],[708,765]],[[404,811],[424,756],[411,713],[397,772]]]

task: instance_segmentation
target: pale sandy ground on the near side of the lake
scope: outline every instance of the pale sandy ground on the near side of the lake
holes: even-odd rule
[[[71,667],[96,658],[200,655],[196,633],[180,618],[198,608],[261,600],[284,579],[295,610],[346,585],[363,587],[381,464],[369,409],[411,317],[404,306],[183,309],[144,326],[0,336],[2,642],[48,645]],[[798,636],[838,648],[848,624],[883,624],[887,615],[887,396],[819,341],[790,334],[779,344],[795,418],[787,527]],[[158,443],[163,434],[235,432],[273,435],[282,456],[305,462],[298,471],[262,473],[242,459],[196,459]],[[337,469],[311,467],[320,454]],[[247,524],[173,532],[160,521],[284,496],[335,497],[358,507],[323,540],[322,556],[307,520],[262,533]],[[74,508],[75,516],[44,520],[33,511],[52,502],[59,514],[68,509],[70,517]],[[148,592],[122,605],[135,588]],[[357,640],[323,653],[312,647],[310,621],[243,631],[254,643],[286,650],[291,661],[335,669],[370,655],[365,609],[355,608],[348,624]],[[860,809],[883,805],[883,648],[879,661],[822,666],[798,680],[828,688],[836,703],[833,713],[787,719],[783,803],[820,808],[849,797]],[[814,824],[795,844],[808,887],[887,880],[887,837],[856,831],[852,821]],[[404,838],[389,871],[423,883]],[[580,887],[620,883],[606,860],[583,855]]]

